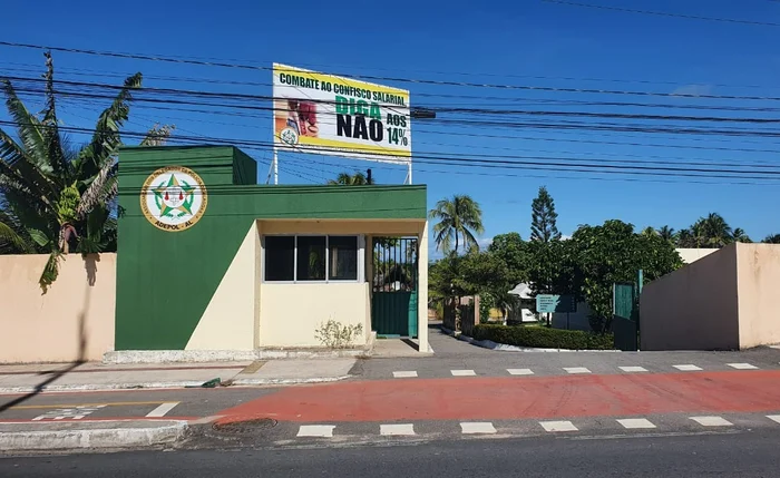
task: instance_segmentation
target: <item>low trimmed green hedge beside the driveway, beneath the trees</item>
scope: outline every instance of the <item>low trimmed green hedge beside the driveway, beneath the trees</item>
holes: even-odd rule
[[[480,324],[474,328],[474,339],[540,349],[614,349],[612,334],[595,334],[579,330],[547,329],[544,326]]]

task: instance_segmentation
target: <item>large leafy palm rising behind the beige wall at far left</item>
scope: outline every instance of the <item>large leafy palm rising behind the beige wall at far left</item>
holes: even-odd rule
[[[56,279],[64,254],[116,251],[116,154],[119,128],[129,114],[130,90],[142,75],[125,80],[98,117],[91,142],[80,150],[60,134],[53,61],[46,56],[46,106],[31,114],[8,80],[0,79],[18,140],[0,129],[0,252],[48,253],[40,284]],[[142,145],[159,144],[170,127],[153,128]]]

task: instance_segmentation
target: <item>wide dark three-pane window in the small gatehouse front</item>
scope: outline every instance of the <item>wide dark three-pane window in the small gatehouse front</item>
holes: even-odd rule
[[[266,282],[359,281],[358,236],[264,236]]]

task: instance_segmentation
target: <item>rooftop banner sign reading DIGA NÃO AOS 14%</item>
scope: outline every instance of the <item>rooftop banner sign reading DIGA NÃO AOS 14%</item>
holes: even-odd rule
[[[276,147],[411,162],[408,90],[274,64],[273,97]]]

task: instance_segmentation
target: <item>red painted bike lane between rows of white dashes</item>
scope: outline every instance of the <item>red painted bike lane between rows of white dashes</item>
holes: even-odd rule
[[[780,371],[398,379],[293,387],[222,421],[513,420],[780,410]]]

